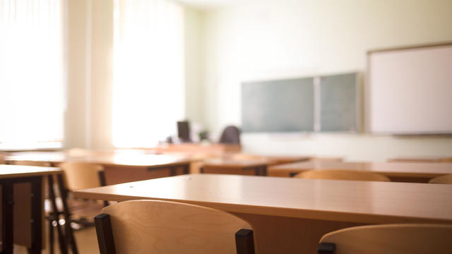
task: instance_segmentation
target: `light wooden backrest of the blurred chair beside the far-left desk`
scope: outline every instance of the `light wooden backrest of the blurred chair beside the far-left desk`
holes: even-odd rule
[[[69,191],[102,186],[99,172],[103,167],[88,162],[65,162],[60,164],[64,171],[64,185]]]

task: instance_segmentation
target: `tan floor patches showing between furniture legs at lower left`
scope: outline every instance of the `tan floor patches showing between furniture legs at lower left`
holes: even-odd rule
[[[46,227],[47,228],[47,227]],[[46,233],[47,234],[47,233]],[[97,246],[97,236],[94,226],[87,227],[85,229],[79,229],[75,231],[75,237],[78,247],[78,253],[80,254],[98,254],[99,248]],[[48,240],[48,237],[46,237]],[[57,234],[55,234],[55,241],[57,241]],[[49,243],[47,242],[47,247]],[[59,254],[58,243],[54,244],[55,254]],[[14,246],[14,253],[28,254],[27,249],[22,246]],[[49,248],[42,250],[42,254],[48,254]],[[71,253],[71,251],[69,251]]]

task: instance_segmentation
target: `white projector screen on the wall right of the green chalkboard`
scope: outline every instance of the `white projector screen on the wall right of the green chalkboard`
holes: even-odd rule
[[[452,133],[452,43],[369,52],[371,133]]]

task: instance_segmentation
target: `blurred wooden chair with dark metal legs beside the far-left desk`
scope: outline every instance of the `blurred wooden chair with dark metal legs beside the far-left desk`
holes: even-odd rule
[[[108,202],[105,201],[103,204],[99,204],[91,200],[74,200],[71,198],[71,193],[80,189],[105,186],[105,175],[101,165],[88,162],[65,162],[60,164],[60,167],[64,172],[63,176],[58,175],[57,178],[59,193],[61,193],[62,211],[61,207],[57,207],[57,204],[52,204],[52,210],[58,212],[54,212],[51,216],[47,217],[50,222],[50,250],[52,253],[54,234],[52,225],[57,224],[60,216],[63,215],[66,221],[64,224],[66,232],[64,244],[67,243],[71,246],[72,253],[78,253],[71,223],[76,222],[83,225],[93,225],[94,222],[90,222],[88,218],[93,218],[95,214],[102,210],[102,207],[108,205]],[[48,181],[49,186],[53,186],[52,177],[49,177]],[[52,197],[50,199],[52,200]]]

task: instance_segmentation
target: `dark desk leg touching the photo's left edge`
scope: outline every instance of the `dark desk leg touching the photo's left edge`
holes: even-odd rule
[[[3,254],[13,253],[13,183],[12,181],[2,181],[1,182],[1,198],[2,198],[2,208],[1,208],[1,242],[2,242],[2,252]]]

